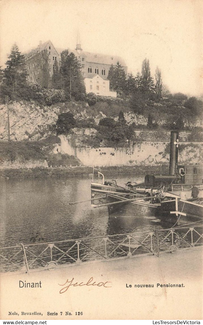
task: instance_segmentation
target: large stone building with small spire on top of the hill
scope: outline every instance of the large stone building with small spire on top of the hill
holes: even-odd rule
[[[109,80],[107,77],[111,65],[115,66],[117,62],[122,65],[127,75],[127,66],[122,58],[118,56],[110,56],[83,51],[79,38],[77,39],[76,49],[67,49],[69,52],[73,52],[75,56],[77,56],[81,64],[81,72],[84,78],[84,84],[87,93],[94,93],[99,96],[117,96],[117,93],[114,92],[113,89],[110,89]],[[50,40],[43,44],[40,42],[36,49],[33,49],[26,55],[28,79],[30,82],[34,83],[37,80],[40,80],[40,71],[43,68],[40,65],[40,58],[44,50],[47,50],[48,53],[49,76],[51,77],[53,75],[55,61],[57,61],[60,68],[60,54],[64,49],[56,48]]]

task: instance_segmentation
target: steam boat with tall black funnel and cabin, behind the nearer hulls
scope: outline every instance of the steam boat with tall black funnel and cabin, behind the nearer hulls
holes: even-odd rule
[[[102,175],[102,183],[91,183],[91,194],[94,198],[98,193],[137,193],[141,195],[154,195],[159,191],[162,198],[176,197],[184,195],[187,199],[193,195],[194,187],[199,190],[199,197],[203,198],[203,164],[178,164],[178,147],[179,147],[179,132],[171,131],[170,139],[170,163],[169,174],[167,175],[145,175],[145,180],[142,183],[127,182],[126,187],[118,186],[115,180],[110,182],[104,181]],[[94,173],[93,173],[94,175]]]

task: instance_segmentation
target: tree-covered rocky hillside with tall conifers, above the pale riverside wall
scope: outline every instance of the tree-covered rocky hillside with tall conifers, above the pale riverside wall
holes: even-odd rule
[[[139,142],[135,130],[192,130],[190,141],[202,141],[201,98],[170,94],[158,67],[155,79],[151,75],[148,59],[143,60],[141,73],[136,76],[126,76],[119,62],[112,66],[108,79],[118,97],[107,98],[85,94],[80,64],[73,53],[62,52],[61,66],[54,63],[54,74],[48,83],[47,53],[44,51],[39,55],[42,73],[37,76],[37,84],[27,82],[26,60],[17,45],[12,47],[6,68],[0,71],[1,115],[4,119],[0,125],[3,130],[1,138],[7,139],[9,111],[11,140],[32,140],[11,142],[5,146],[2,143],[3,156],[8,160],[26,160],[35,155],[37,159],[51,161],[51,157],[54,158],[50,153],[58,140],[56,137],[53,143],[50,136],[74,134],[77,130],[84,130],[84,133],[89,130],[81,140],[83,146],[89,147],[119,148],[130,142]],[[4,105],[5,96],[10,97],[9,107]],[[79,133],[77,135],[80,137]],[[59,155],[57,157],[59,162]],[[62,158],[66,162],[67,157]]]

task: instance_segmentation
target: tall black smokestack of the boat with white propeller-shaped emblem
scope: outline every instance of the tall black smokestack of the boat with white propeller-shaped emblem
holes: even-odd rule
[[[169,175],[175,175],[178,164],[178,133],[177,131],[171,131]]]

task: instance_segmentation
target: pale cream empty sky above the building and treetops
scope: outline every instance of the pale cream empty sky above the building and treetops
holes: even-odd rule
[[[149,59],[172,93],[203,93],[202,0],[0,0],[0,65],[14,43],[21,52],[55,47],[121,56],[128,72]]]

